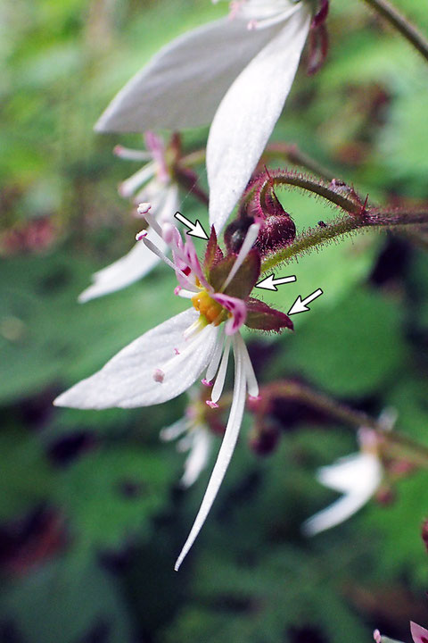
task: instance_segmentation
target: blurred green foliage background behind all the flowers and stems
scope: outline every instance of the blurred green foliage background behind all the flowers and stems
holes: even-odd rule
[[[274,138],[374,202],[426,201],[427,66],[364,3],[331,4],[325,68],[309,78],[301,65]],[[396,4],[428,32],[426,0]],[[410,618],[428,623],[426,472],[304,539],[301,522],[335,497],[317,484],[317,466],[355,451],[355,435],[290,403],[277,413],[276,452],[261,458],[247,418],[176,573],[209,475],[180,489],[185,456],[158,438],[184,396],[149,410],[52,407],[184,308],[162,267],[78,305],[91,273],[128,251],[138,230],[116,189],[137,166],[111,150],[141,137],[92,127],[160,46],[225,12],[208,0],[0,4],[2,643],[353,643],[374,627],[409,640]],[[205,137],[186,132],[185,149]],[[281,198],[300,230],[334,214],[295,193]],[[181,211],[207,221],[192,195],[182,194]],[[292,336],[251,335],[260,382],[299,378],[374,415],[393,405],[398,429],[426,444],[428,256],[423,234],[418,242],[372,232],[292,264],[298,284],[274,294],[277,307],[316,288],[325,296]]]

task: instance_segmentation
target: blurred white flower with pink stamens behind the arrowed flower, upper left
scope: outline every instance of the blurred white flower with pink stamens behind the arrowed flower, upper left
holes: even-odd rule
[[[141,170],[136,171],[128,180],[119,185],[119,194],[124,197],[134,196],[136,203],[142,201],[152,204],[152,211],[161,224],[174,221],[178,209],[178,187],[172,180],[165,160],[165,146],[160,137],[152,132],[145,133],[147,152],[129,150],[116,146],[115,154],[132,161],[146,161]],[[148,231],[149,238],[155,238],[152,230]],[[162,251],[166,244],[161,242]],[[141,279],[159,262],[159,258],[137,243],[129,252],[93,275],[93,284],[86,288],[78,297],[84,303],[98,296],[108,295],[121,288],[127,288],[136,280]]]

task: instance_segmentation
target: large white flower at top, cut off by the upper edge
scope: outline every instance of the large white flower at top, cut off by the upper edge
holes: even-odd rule
[[[309,33],[307,0],[241,0],[233,19],[177,38],[152,58],[96,123],[98,131],[184,129],[212,121],[210,223],[221,230],[254,171]]]

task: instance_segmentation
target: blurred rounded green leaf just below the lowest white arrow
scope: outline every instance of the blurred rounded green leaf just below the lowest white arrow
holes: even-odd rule
[[[320,297],[322,299],[322,297]],[[284,345],[279,368],[298,372],[338,396],[365,396],[397,376],[406,356],[394,301],[356,288],[330,311],[313,310]],[[293,321],[295,317],[293,316]],[[286,347],[285,347],[286,346]]]

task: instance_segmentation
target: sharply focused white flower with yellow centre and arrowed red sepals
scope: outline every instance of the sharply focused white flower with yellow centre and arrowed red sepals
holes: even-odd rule
[[[207,404],[216,406],[232,348],[235,384],[225,436],[201,508],[177,559],[178,569],[201,530],[225,476],[243,420],[246,392],[248,390],[251,397],[259,394],[239,330],[243,323],[264,330],[292,328],[292,321],[284,313],[249,297],[259,279],[259,253],[251,249],[259,224],[251,225],[238,255],[226,257],[212,229],[202,268],[190,238],[184,243],[174,226],[167,224],[162,230],[148,212],[145,218],[170,246],[173,260],[155,246],[145,230],[137,238],[176,271],[179,282],[176,293],[190,298],[192,306],[136,339],[101,371],[62,393],[54,404],[86,409],[160,404],[183,393],[206,371],[203,383],[213,382]]]

